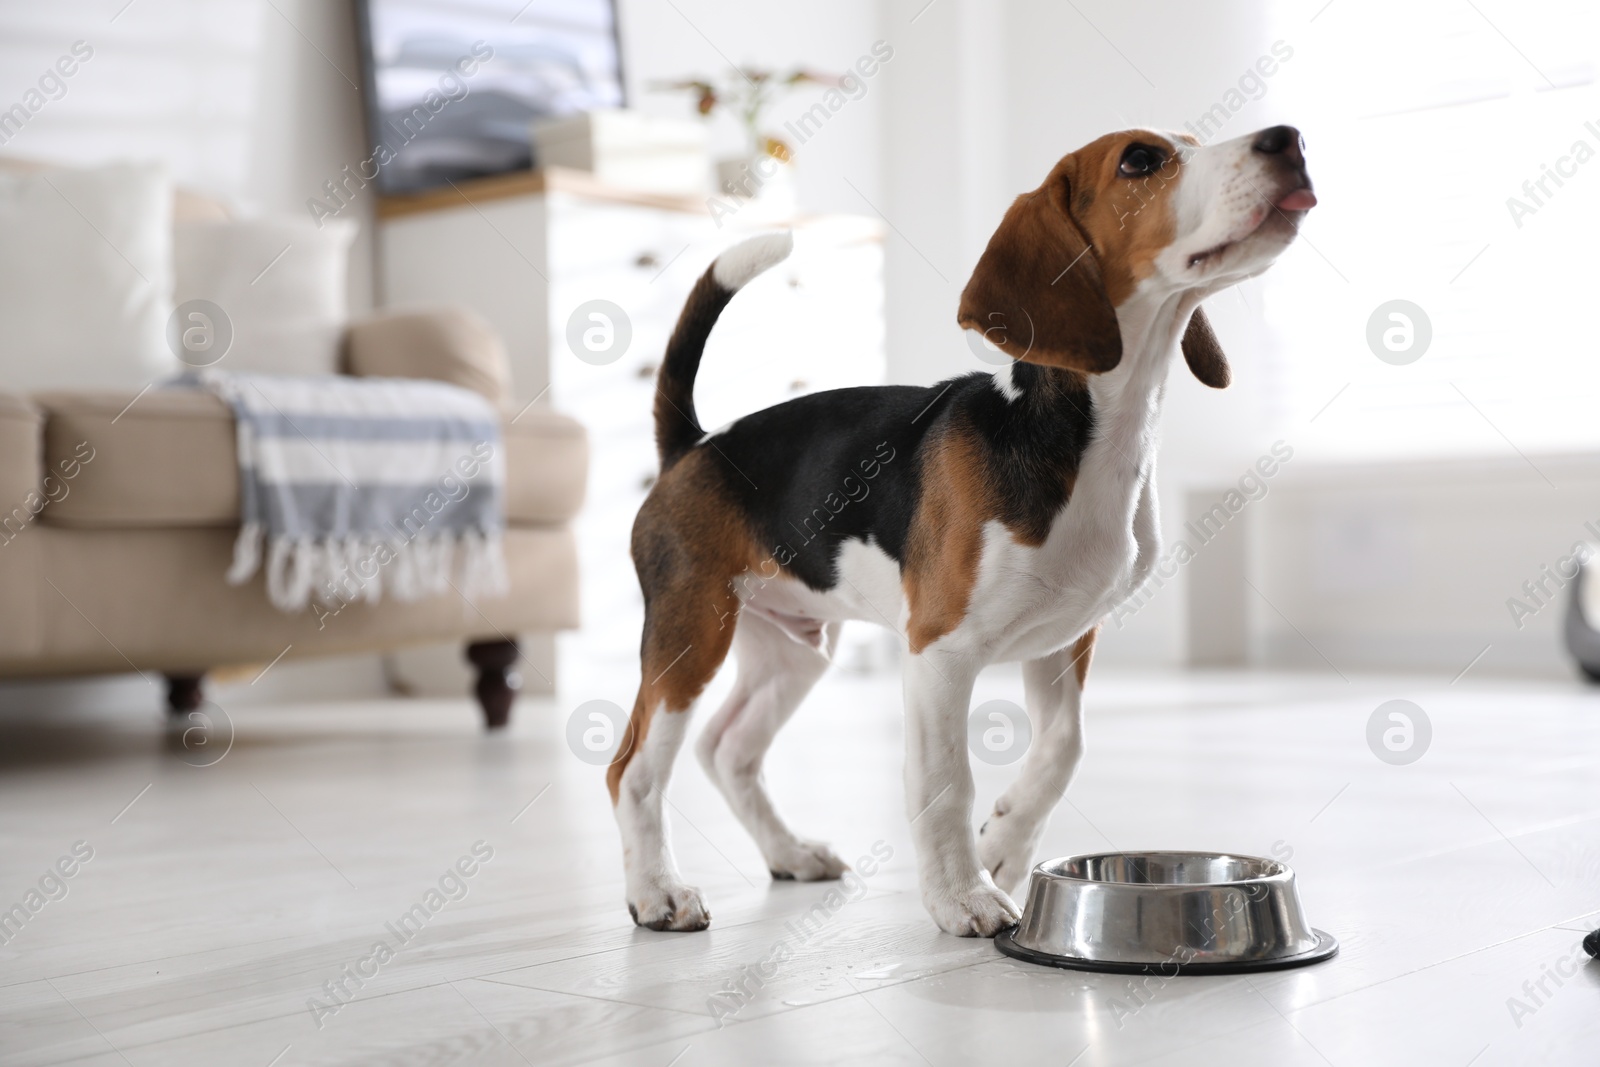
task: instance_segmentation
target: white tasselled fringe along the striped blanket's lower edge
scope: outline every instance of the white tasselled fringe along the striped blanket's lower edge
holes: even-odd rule
[[[245,526],[234,544],[230,584],[261,566],[264,534]],[[378,537],[275,537],[267,549],[267,600],[280,611],[304,611],[314,601],[338,611],[354,601],[426,600],[461,590],[469,601],[510,592],[499,534],[478,530],[421,536],[408,542]]]

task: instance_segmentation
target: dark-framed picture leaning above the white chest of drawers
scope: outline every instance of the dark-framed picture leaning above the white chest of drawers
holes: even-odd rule
[[[528,130],[621,107],[614,0],[357,0],[378,187],[538,165]]]

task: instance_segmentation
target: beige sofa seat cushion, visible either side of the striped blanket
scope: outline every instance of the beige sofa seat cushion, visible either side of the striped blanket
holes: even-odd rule
[[[40,394],[45,459],[93,448],[70,493],[43,518],[61,526],[232,526],[238,522],[234,416],[194,389]],[[131,406],[130,406],[131,403]],[[582,426],[530,408],[504,427],[506,517],[512,526],[563,523],[584,499]]]

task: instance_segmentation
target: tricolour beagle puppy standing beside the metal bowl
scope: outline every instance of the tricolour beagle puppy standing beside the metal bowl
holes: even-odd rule
[[[1181,349],[1206,386],[1229,366],[1200,310],[1266,270],[1317,203],[1301,134],[1202,146],[1114,133],[1018,197],[957,315],[1013,360],[928,387],[800,397],[707,434],[694,373],[722,309],[782,261],[747,240],[691,291],[656,390],[661,477],[634,523],[645,593],[642,685],[608,785],[627,909],[702,929],[662,792],[696,697],[738,651],[733,694],[698,755],[774,878],[846,864],[797,835],[762,782],[773,736],[827,669],[845,619],[906,640],[906,811],[941,929],[990,937],[1083,755],[1094,633],[1160,553],[1157,421]],[[1034,742],[978,833],[966,717],[978,672],[1022,662]]]

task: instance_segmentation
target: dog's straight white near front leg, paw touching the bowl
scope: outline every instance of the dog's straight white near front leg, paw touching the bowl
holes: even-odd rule
[[[978,861],[966,710],[976,661],[925,651],[906,665],[906,809],[922,901],[939,929],[994,937],[1021,918]]]

